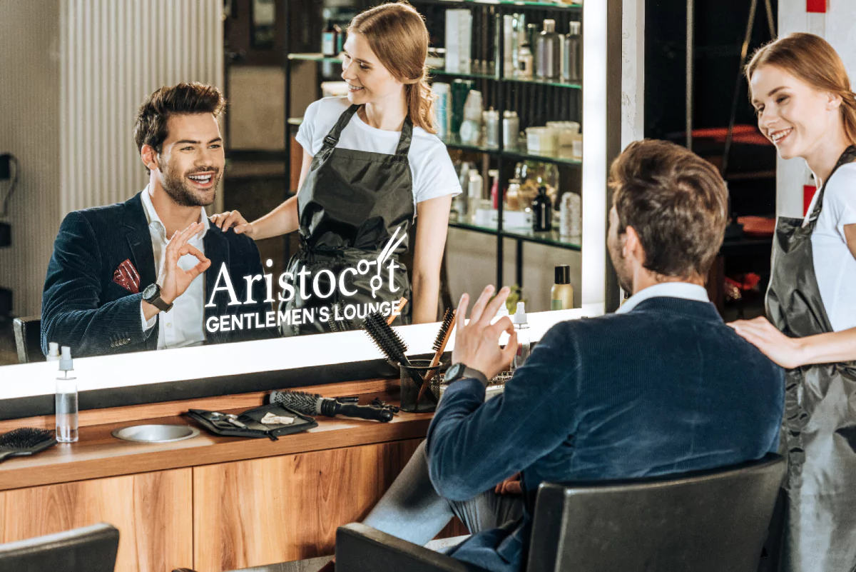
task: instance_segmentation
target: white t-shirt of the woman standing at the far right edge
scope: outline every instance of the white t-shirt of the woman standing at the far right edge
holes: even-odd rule
[[[814,210],[814,194],[806,219]],[[856,327],[856,258],[844,227],[856,224],[856,164],[841,165],[826,184],[823,206],[811,235],[814,274],[833,331]]]

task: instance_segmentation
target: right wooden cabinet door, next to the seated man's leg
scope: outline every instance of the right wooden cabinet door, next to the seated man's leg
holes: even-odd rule
[[[193,563],[222,572],[330,555],[421,439],[193,468]]]

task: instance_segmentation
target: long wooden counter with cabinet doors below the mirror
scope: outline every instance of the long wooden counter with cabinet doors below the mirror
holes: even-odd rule
[[[384,392],[390,385],[306,390],[391,402],[395,396]],[[110,522],[121,535],[117,572],[221,572],[331,554],[336,527],[359,521],[377,503],[425,437],[431,414],[401,412],[390,423],[318,417],[318,427],[278,441],[204,430],[168,444],[110,435],[145,423],[193,425],[178,414],[189,407],[239,412],[263,396],[81,413],[79,443],[0,463],[0,542]],[[52,423],[3,421],[0,432]]]

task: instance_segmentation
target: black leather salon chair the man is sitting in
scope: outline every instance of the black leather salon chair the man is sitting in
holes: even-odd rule
[[[786,463],[769,455],[670,479],[548,484],[526,572],[756,572]],[[479,569],[362,524],[336,531],[337,572]]]

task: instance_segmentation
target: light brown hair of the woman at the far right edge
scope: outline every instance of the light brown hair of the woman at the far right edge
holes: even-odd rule
[[[792,33],[770,42],[752,55],[746,65],[746,80],[751,81],[755,70],[765,65],[784,69],[815,89],[840,96],[844,133],[856,143],[856,93],[841,57],[829,42],[811,33]]]

